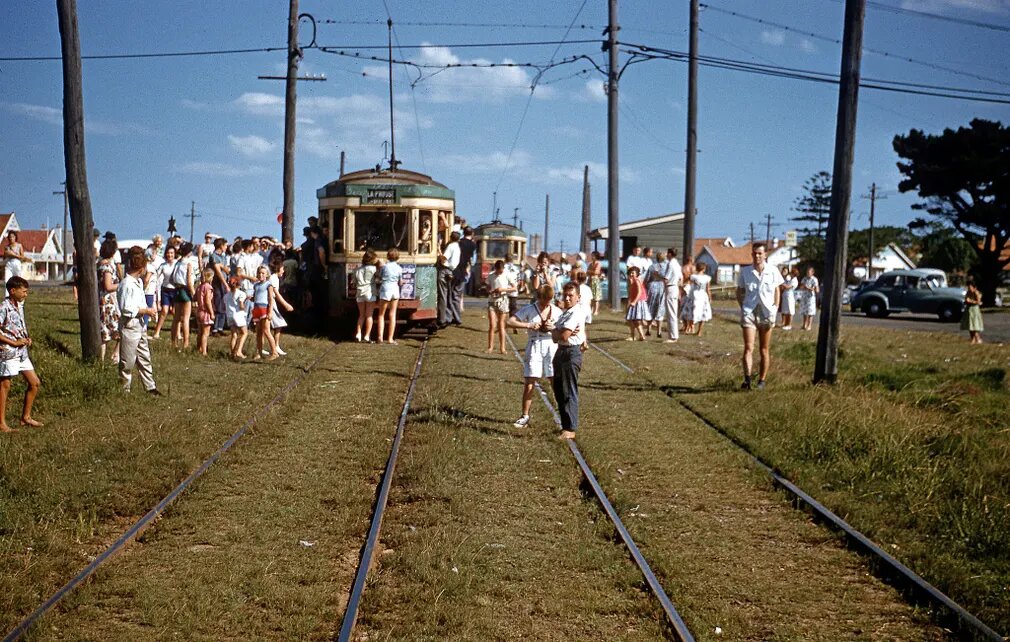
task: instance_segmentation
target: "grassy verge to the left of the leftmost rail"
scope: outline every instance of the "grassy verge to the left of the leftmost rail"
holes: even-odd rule
[[[321,342],[285,338],[291,356],[232,363],[223,339],[212,355],[154,342],[167,397],[119,392],[115,367],[83,365],[70,292],[39,289],[27,302],[45,422],[0,436],[0,630],[63,585],[252,416]],[[15,383],[7,416],[20,409]]]

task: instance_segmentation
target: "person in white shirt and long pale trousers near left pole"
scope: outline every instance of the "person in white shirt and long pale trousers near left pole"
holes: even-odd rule
[[[158,310],[147,305],[143,294],[143,274],[147,259],[143,253],[131,253],[127,257],[126,275],[119,282],[117,299],[119,304],[119,380],[123,390],[129,392],[133,380],[133,368],[140,375],[140,383],[148,394],[160,397],[155,385],[155,370],[150,362],[150,347],[142,317],[154,317]]]

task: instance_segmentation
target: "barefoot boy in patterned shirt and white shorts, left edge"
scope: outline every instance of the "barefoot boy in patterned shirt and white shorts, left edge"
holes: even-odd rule
[[[24,322],[24,300],[28,298],[28,282],[21,277],[7,280],[8,297],[0,303],[0,432],[17,432],[7,425],[7,395],[10,381],[21,375],[28,389],[24,393],[24,410],[21,411],[22,426],[41,426],[42,422],[31,418],[31,405],[38,395],[40,382],[35,375],[35,366],[28,358],[31,338]]]

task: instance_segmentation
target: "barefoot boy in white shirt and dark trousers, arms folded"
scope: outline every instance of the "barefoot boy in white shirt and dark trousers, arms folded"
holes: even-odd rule
[[[558,342],[551,385],[558,401],[558,414],[562,418],[559,438],[575,439],[579,429],[579,372],[582,370],[582,351],[586,343],[583,334],[586,311],[579,305],[579,285],[575,282],[565,284],[561,307],[564,311],[550,333]]]

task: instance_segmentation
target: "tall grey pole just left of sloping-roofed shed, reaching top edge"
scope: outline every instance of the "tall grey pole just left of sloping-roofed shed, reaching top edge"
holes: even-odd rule
[[[610,0],[610,10],[607,22],[607,54],[609,66],[607,69],[607,281],[610,283],[610,308],[620,310],[621,292],[618,285],[621,282],[621,230],[618,210],[617,188],[617,81],[620,72],[617,69],[617,0]]]

